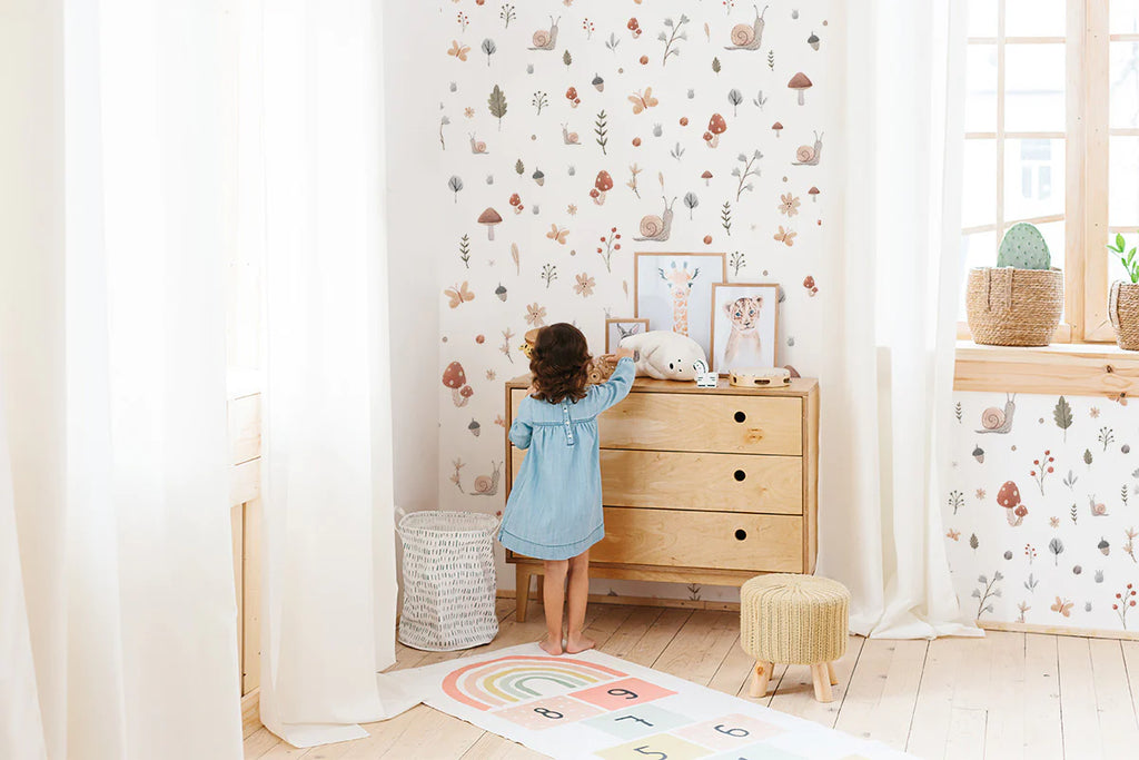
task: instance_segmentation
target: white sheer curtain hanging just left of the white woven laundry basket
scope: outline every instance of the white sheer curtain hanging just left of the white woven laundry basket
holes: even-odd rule
[[[241,245],[267,297],[261,718],[296,746],[410,706],[395,660],[376,0],[248,0]]]

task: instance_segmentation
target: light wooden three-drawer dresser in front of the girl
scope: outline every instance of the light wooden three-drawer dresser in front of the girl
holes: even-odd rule
[[[530,377],[506,384],[506,427]],[[739,586],[765,572],[814,571],[819,386],[716,389],[639,377],[598,419],[605,539],[598,578]],[[507,493],[526,452],[507,436]],[[517,618],[542,562],[507,551]]]

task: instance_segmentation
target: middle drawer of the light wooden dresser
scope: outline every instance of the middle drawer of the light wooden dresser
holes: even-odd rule
[[[525,453],[510,452],[515,480]],[[601,498],[613,507],[801,515],[803,460],[601,449]]]

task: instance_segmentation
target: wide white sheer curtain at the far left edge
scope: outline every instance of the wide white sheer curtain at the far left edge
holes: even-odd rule
[[[0,757],[241,757],[222,6],[0,13]]]

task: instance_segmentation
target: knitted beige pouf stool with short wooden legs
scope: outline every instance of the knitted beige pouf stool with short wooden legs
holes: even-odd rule
[[[846,653],[851,593],[813,575],[760,575],[739,589],[739,643],[755,657],[752,696],[768,693],[775,663],[811,665],[814,698],[830,702],[835,660]]]

